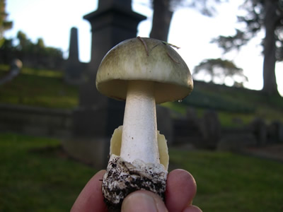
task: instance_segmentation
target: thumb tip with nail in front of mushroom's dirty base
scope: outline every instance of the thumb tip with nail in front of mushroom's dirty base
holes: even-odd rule
[[[166,212],[162,199],[148,191],[137,191],[129,194],[122,203],[122,212]]]

